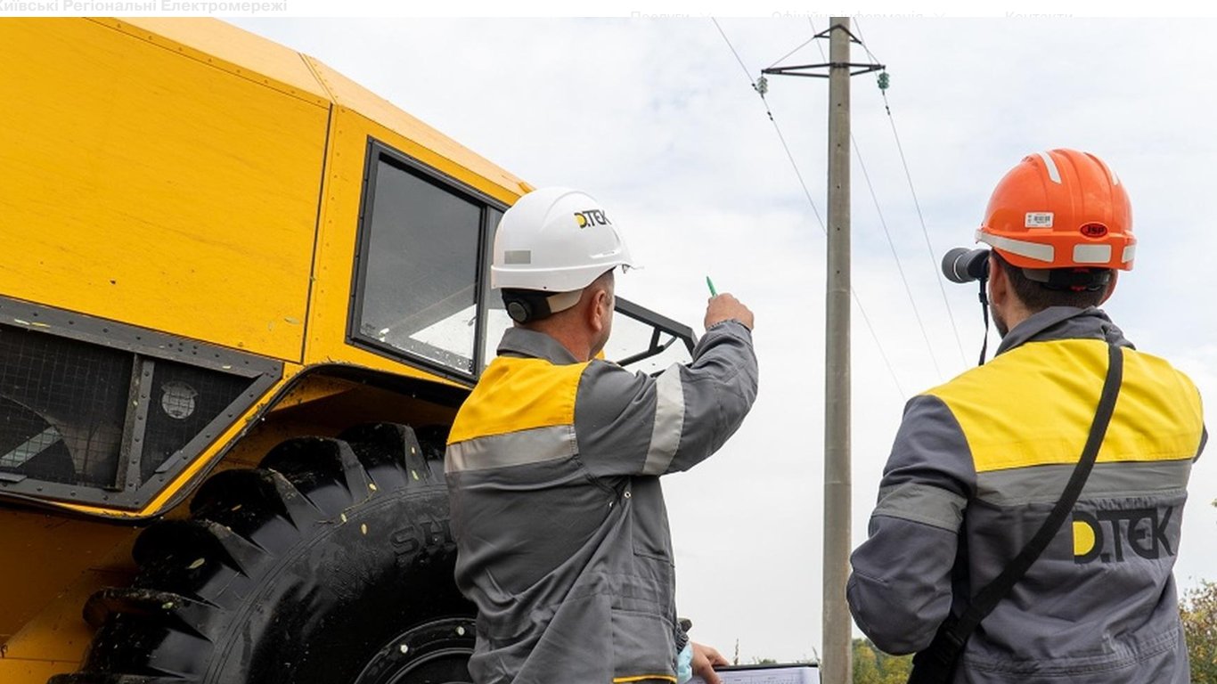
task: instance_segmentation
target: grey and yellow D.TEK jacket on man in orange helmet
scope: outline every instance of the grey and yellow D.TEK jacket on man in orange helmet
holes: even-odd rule
[[[992,361],[909,400],[847,590],[880,649],[926,647],[1043,523],[1086,443],[1107,342],[1125,347],[1125,379],[1094,470],[955,682],[1189,680],[1172,568],[1200,396],[1095,308],[1041,312]]]

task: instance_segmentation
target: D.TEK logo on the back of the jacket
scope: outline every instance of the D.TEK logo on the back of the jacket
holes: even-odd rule
[[[1073,562],[1125,562],[1126,543],[1127,549],[1146,560],[1157,560],[1163,553],[1173,556],[1174,549],[1167,537],[1173,515],[1174,506],[1168,506],[1162,516],[1159,516],[1157,509],[1104,510],[1093,514],[1075,510]]]

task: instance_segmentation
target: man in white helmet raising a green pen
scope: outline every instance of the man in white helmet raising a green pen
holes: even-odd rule
[[[711,684],[727,661],[677,619],[658,476],[735,432],[757,392],[752,312],[711,298],[688,366],[657,377],[598,360],[613,271],[630,257],[584,192],[520,198],[494,240],[492,286],[515,326],[461,407],[444,469],[456,583],[476,604],[477,684]]]

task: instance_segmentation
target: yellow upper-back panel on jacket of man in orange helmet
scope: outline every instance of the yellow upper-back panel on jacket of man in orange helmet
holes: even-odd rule
[[[1107,370],[1099,340],[1028,342],[931,389],[964,432],[977,472],[1077,462]],[[1191,381],[1125,349],[1125,379],[1098,461],[1190,459],[1204,416]]]

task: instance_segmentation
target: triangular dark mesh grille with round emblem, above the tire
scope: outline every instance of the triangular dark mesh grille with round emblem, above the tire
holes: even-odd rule
[[[152,375],[144,458],[140,461],[141,480],[147,481],[195,437],[202,434],[208,441],[214,438],[215,428],[208,430],[208,426],[225,410],[230,413],[225,414],[223,425],[229,425],[235,417],[230,405],[254,380],[157,360]]]

